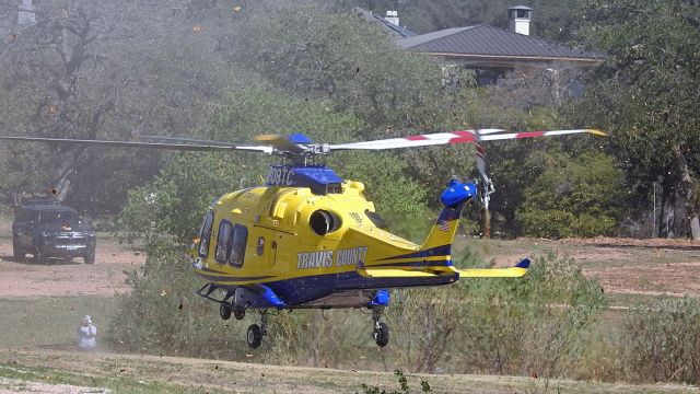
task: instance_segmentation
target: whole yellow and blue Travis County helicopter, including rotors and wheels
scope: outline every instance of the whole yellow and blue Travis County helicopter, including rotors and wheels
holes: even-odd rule
[[[143,136],[150,142],[0,137],[4,140],[139,147],[186,151],[258,151],[290,164],[271,165],[265,184],[226,194],[205,215],[190,250],[196,275],[206,280],[197,293],[219,303],[222,318],[259,312],[247,343],[260,346],[269,310],[366,308],[373,339],[381,347],[389,327],[381,321],[390,288],[448,285],[459,278],[522,277],[525,258],[510,268],[457,269],[451,246],[465,204],[487,208],[493,184],[486,173],[483,141],[572,134],[604,136],[594,129],[509,132],[459,130],[341,144],[308,137],[261,136],[260,144],[233,144],[187,138]],[[339,150],[387,150],[476,143],[479,185],[451,179],[440,195],[443,209],[428,237],[416,244],[392,234],[363,195],[364,185],[343,181],[315,158]]]

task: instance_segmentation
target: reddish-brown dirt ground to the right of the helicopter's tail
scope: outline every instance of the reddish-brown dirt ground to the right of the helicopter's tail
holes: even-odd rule
[[[700,297],[700,242],[691,240],[517,239],[462,241],[495,266],[556,252],[574,258],[606,293]],[[464,247],[464,246],[463,246]]]

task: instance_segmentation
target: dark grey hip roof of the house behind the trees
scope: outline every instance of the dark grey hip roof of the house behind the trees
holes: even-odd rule
[[[408,50],[454,57],[580,60],[596,63],[605,57],[602,54],[570,48],[556,42],[483,24],[421,34],[399,39],[397,44]]]

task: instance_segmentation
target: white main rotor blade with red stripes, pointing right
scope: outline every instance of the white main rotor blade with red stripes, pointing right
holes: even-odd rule
[[[438,144],[475,143],[477,141],[497,141],[506,139],[524,139],[536,137],[555,137],[570,134],[591,134],[606,136],[605,132],[595,129],[552,130],[552,131],[524,131],[508,132],[503,129],[458,130],[451,132],[435,132],[405,138],[389,138],[374,141],[350,142],[330,144],[334,150],[387,150],[401,148],[430,147]]]

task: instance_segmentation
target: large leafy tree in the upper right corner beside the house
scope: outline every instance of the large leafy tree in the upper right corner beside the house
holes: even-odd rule
[[[662,236],[700,239],[697,3],[587,0],[579,12],[579,39],[608,57],[569,116],[610,132],[638,200],[661,183]]]

